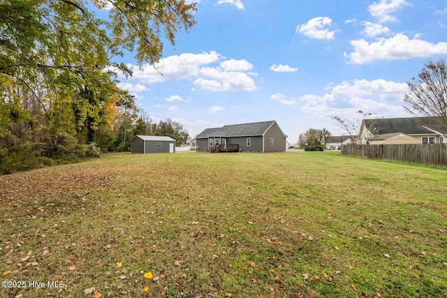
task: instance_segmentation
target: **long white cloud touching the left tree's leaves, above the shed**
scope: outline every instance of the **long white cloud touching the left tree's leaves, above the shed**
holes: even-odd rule
[[[217,60],[221,54],[217,52],[202,52],[200,54],[184,53],[173,55],[162,59],[159,64],[152,66],[145,64],[131,66],[133,78],[143,80],[144,82],[164,82],[168,79],[184,79],[198,75],[200,67],[211,64]]]

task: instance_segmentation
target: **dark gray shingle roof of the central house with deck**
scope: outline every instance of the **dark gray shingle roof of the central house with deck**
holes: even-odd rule
[[[218,128],[207,128],[196,139],[207,137],[244,137],[247,135],[263,135],[274,124],[272,121],[254,122],[246,124],[225,125]]]

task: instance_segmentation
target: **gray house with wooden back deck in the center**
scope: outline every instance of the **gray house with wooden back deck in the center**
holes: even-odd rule
[[[286,151],[286,137],[277,121],[207,128],[196,137],[200,152],[279,152]]]

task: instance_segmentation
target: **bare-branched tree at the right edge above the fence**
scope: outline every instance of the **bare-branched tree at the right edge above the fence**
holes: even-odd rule
[[[416,117],[432,117],[432,124],[447,129],[447,65],[444,59],[429,60],[417,77],[408,82],[404,108]]]

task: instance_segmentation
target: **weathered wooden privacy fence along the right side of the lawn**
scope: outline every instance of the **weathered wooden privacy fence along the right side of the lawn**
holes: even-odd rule
[[[348,144],[342,155],[447,167],[447,144]]]

